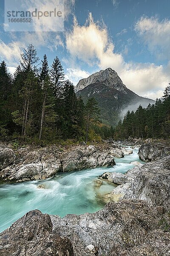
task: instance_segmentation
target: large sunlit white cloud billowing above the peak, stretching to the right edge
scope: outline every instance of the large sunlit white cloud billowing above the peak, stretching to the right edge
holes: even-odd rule
[[[126,63],[122,54],[114,51],[106,26],[95,23],[91,14],[83,26],[74,20],[72,31],[66,35],[66,47],[72,58],[97,64],[101,69],[113,68],[124,84],[141,96],[156,99],[170,81],[170,73],[161,65]]]

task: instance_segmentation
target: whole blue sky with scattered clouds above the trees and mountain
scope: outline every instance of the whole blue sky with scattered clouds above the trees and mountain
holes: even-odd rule
[[[57,55],[75,85],[107,67],[130,90],[152,99],[170,82],[170,0],[65,0],[64,32],[5,32],[0,3],[0,61],[11,71],[32,43],[49,65]]]

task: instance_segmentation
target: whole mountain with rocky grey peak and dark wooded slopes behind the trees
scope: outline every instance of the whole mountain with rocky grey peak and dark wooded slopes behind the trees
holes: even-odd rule
[[[95,97],[99,102],[102,121],[113,126],[128,110],[136,111],[139,105],[145,108],[149,103],[155,103],[154,100],[143,98],[129,90],[111,68],[80,80],[75,90],[77,96],[81,96],[85,102],[88,98]]]

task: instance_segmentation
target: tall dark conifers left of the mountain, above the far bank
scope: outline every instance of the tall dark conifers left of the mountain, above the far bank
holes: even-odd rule
[[[51,67],[46,55],[40,68],[39,61],[30,44],[14,76],[5,61],[0,63],[0,140],[45,144],[104,138],[110,128],[101,125],[98,102],[76,96],[57,56]]]

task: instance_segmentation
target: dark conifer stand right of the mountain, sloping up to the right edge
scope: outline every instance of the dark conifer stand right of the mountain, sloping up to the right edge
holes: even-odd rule
[[[165,88],[164,95],[156,99],[155,104],[149,104],[147,108],[139,105],[136,112],[127,111],[113,136],[115,139],[170,138],[170,86]]]

